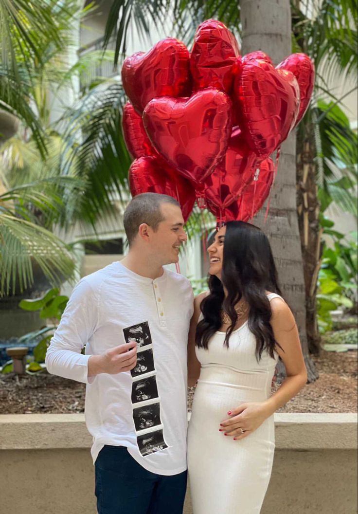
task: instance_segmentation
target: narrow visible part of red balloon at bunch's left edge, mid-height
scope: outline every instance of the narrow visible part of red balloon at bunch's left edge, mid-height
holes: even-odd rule
[[[122,128],[128,152],[133,158],[158,155],[145,132],[142,117],[130,102],[127,102],[123,108]]]

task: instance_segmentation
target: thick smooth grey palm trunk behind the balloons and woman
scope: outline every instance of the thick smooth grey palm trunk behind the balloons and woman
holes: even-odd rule
[[[291,53],[290,0],[240,0],[242,53],[262,50],[275,64]],[[280,162],[265,222],[263,207],[255,223],[270,238],[285,295],[299,328],[309,381],[317,378],[306,336],[305,281],[296,207],[296,140],[291,134],[281,146]],[[278,379],[284,370],[279,369]]]

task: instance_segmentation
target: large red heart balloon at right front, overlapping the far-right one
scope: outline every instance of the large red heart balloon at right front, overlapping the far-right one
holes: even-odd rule
[[[294,75],[276,69],[266,56],[248,54],[234,81],[239,126],[255,154],[268,157],[292,130],[299,109],[299,89]]]

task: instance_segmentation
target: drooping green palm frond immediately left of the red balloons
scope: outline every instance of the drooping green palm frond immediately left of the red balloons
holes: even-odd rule
[[[113,201],[128,194],[127,175],[131,159],[121,128],[125,103],[120,83],[108,81],[91,89],[64,116],[67,126],[61,170],[69,168],[86,180],[81,218],[95,224]]]

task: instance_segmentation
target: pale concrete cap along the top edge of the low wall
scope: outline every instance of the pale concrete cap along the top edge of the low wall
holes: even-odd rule
[[[356,449],[357,424],[357,414],[275,414],[276,449]],[[90,448],[91,445],[92,437],[83,414],[0,415],[1,450]]]

